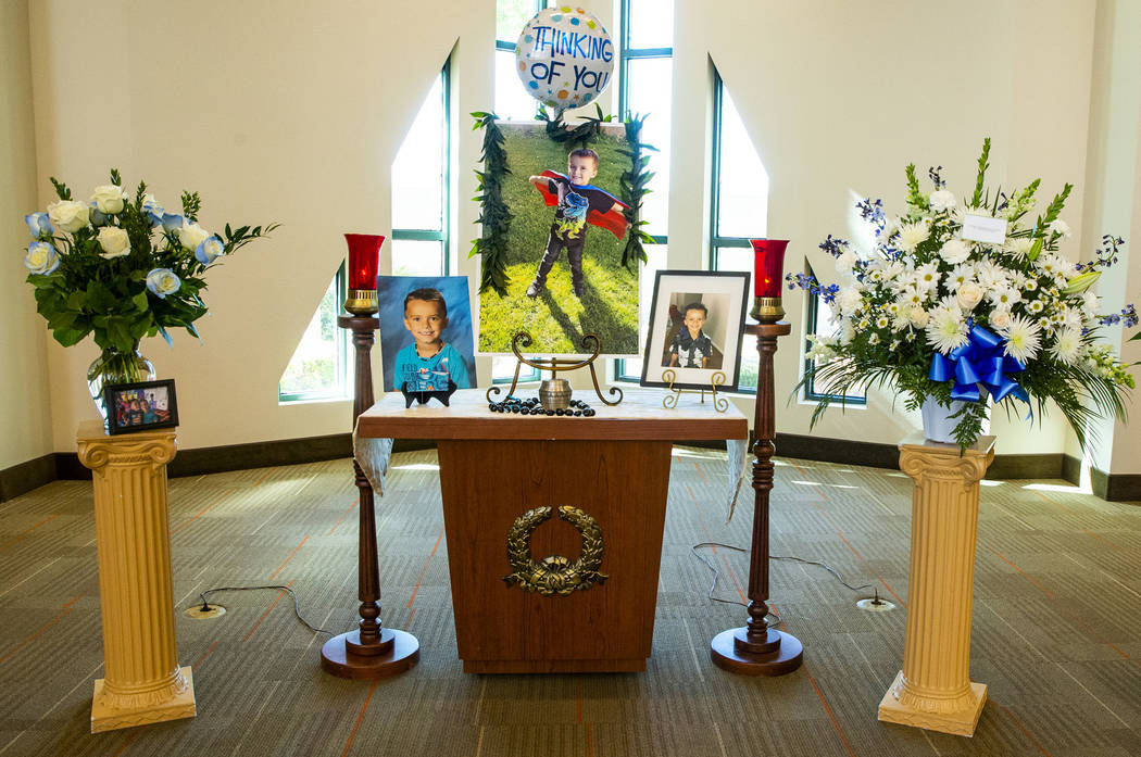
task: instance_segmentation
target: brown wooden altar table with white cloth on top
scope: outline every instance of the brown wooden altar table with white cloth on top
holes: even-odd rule
[[[566,417],[492,413],[482,389],[410,409],[388,393],[361,415],[361,437],[437,442],[466,673],[646,669],[671,447],[748,434],[731,404],[718,413],[687,394],[666,409],[664,396],[626,389],[606,407],[578,390],[597,415]],[[524,591],[528,581],[553,593]]]

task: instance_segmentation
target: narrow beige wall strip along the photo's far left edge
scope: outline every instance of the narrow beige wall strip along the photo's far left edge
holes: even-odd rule
[[[43,321],[24,283],[35,209],[27,3],[0,3],[0,470],[52,451]]]

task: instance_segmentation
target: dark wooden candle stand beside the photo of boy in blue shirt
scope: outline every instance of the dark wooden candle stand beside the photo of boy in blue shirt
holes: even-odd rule
[[[373,332],[380,321],[372,316],[339,316],[337,325],[353,331],[356,347],[356,389],[353,428],[357,417],[372,407]],[[353,461],[361,493],[359,544],[357,547],[357,596],[361,622],[356,630],[333,636],[321,648],[321,667],[342,678],[383,678],[404,673],[420,659],[420,642],[410,633],[385,628],[380,620],[380,563],[377,557],[377,519],[373,494],[361,465]]]

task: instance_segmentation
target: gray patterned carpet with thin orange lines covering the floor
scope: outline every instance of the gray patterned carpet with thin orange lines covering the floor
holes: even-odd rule
[[[477,676],[455,657],[435,453],[394,459],[378,500],[383,620],[420,664],[378,683],[318,665],[324,635],[277,591],[217,595],[228,613],[181,610],[216,586],[290,584],[314,625],[356,619],[356,489],[348,461],[170,483],[179,661],[194,719],[89,733],[103,676],[90,483],[58,481],[0,505],[0,757],[24,755],[1141,755],[1141,507],[1063,482],[988,482],[976,568],[971,678],[989,686],[973,739],[876,721],[903,660],[911,480],[778,459],[771,552],[822,560],[899,604],[855,608],[815,565],[775,561],[772,605],[804,644],[780,678],[733,676],[709,642],[742,625],[706,599],[699,542],[747,546],[752,506],[725,524],[723,455],[674,449],[654,652],[646,673]],[[1052,485],[1052,486],[1050,486]],[[705,550],[717,595],[737,600],[747,557]]]

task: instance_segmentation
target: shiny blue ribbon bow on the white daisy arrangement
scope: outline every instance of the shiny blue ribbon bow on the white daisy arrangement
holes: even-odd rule
[[[956,347],[946,357],[940,352],[932,356],[928,378],[954,381],[952,399],[977,402],[981,397],[979,384],[982,384],[996,402],[1013,394],[1029,405],[1030,397],[1026,390],[1006,375],[1026,371],[1026,364],[1005,355],[1005,339],[973,323],[970,328],[966,344]]]

